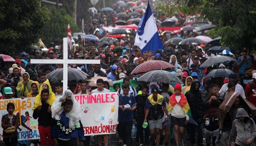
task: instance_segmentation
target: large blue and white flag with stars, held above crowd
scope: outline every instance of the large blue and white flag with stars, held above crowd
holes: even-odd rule
[[[139,46],[141,52],[152,50],[154,54],[157,49],[164,48],[163,42],[158,35],[156,22],[149,2],[146,13],[140,20],[134,45]]]

